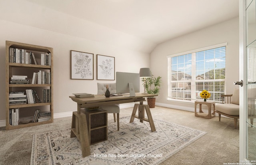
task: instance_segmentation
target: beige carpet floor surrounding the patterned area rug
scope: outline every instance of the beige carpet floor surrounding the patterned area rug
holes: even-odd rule
[[[132,108],[121,109],[120,117],[129,116]],[[233,119],[218,117],[204,119],[193,112],[156,107],[151,109],[153,119],[177,123],[207,132],[161,165],[223,165],[239,163],[239,127],[234,129]],[[112,119],[109,114],[108,118]],[[0,128],[0,164],[29,165],[32,135],[71,127],[71,117],[55,119],[54,123],[5,131]]]

